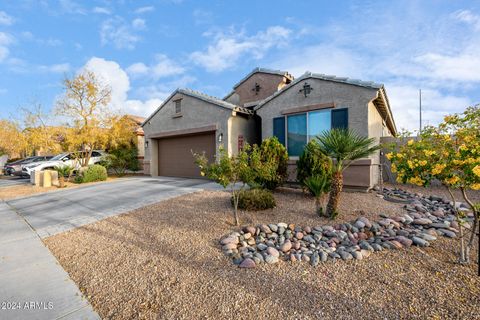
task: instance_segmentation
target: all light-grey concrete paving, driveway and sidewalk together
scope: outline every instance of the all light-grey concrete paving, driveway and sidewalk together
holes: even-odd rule
[[[134,177],[0,201],[0,319],[100,319],[41,238],[219,188],[205,180]]]

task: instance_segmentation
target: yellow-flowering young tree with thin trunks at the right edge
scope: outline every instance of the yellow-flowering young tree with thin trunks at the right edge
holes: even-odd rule
[[[392,162],[392,172],[397,173],[398,182],[426,187],[432,180],[438,180],[454,203],[452,190],[460,190],[474,215],[465,246],[463,229],[467,217],[464,212],[456,212],[461,238],[459,262],[469,263],[479,224],[478,206],[468,193],[480,190],[480,107],[468,107],[462,114],[446,116],[437,127],[425,128],[418,139],[408,140],[386,156]]]

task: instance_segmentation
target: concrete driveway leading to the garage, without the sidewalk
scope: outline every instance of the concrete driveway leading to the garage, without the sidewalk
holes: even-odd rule
[[[201,179],[129,177],[6,202],[45,238],[205,188],[218,187]]]

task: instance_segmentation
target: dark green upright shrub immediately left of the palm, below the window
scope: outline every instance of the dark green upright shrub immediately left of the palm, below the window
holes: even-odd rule
[[[310,140],[297,161],[297,181],[308,190],[305,180],[312,176],[324,176],[332,170],[332,160],[322,153],[316,139]],[[312,193],[312,195],[314,195]]]

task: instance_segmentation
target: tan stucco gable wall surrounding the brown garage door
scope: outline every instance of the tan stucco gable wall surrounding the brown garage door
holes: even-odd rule
[[[175,115],[173,101],[179,98],[182,99],[182,116],[173,117]],[[177,93],[143,126],[145,138],[149,142],[148,148],[145,148],[145,174],[158,175],[158,140],[151,138],[152,135],[161,134],[162,132],[216,126],[216,137],[223,134],[222,143],[215,139],[216,149],[218,150],[220,144],[227,148],[226,142],[229,141],[227,125],[231,115],[232,110],[230,109]]]

